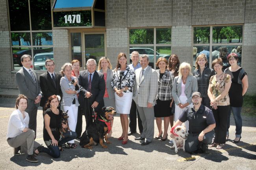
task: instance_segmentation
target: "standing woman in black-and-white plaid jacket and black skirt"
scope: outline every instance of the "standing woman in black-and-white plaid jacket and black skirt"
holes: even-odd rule
[[[154,112],[156,117],[156,124],[158,127],[158,135],[155,139],[160,139],[165,141],[167,139],[167,130],[170,122],[171,106],[172,106],[172,96],[171,91],[173,88],[173,73],[167,69],[167,60],[163,57],[158,58],[156,66],[160,69],[157,70],[158,73],[158,91],[156,93],[156,105],[154,106]],[[162,119],[164,124],[164,133],[162,131]]]

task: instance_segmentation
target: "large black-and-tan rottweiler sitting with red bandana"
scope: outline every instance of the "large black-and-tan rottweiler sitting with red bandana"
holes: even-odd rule
[[[102,114],[97,115],[94,122],[83,132],[80,140],[82,148],[92,149],[92,145],[97,145],[98,143],[102,148],[108,148],[108,146],[104,145],[104,138],[107,144],[111,144],[108,141],[107,133],[111,130],[110,121],[117,112],[112,107],[102,108],[102,110]]]

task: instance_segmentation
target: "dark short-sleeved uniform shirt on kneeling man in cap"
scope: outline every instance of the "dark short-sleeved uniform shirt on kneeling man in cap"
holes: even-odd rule
[[[189,121],[189,131],[192,133],[200,133],[210,124],[215,123],[212,111],[201,104],[197,112],[195,107],[187,108],[179,117],[181,122]]]

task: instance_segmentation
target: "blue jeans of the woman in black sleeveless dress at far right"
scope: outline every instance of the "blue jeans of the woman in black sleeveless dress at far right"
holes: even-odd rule
[[[241,117],[242,107],[239,107],[239,108],[230,107],[230,111],[228,113],[228,122],[227,122],[227,135],[229,134],[228,129],[230,127],[231,111],[233,113],[235,123],[236,123],[236,137],[241,137],[241,133],[242,133],[242,117]]]

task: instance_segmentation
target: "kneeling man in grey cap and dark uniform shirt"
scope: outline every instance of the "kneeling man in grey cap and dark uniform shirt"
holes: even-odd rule
[[[204,153],[207,145],[211,144],[214,138],[215,119],[212,111],[202,105],[202,96],[199,92],[192,94],[193,108],[187,108],[180,115],[171,128],[180,126],[183,122],[189,121],[189,135],[185,143],[185,151],[188,153]]]

